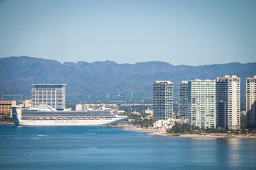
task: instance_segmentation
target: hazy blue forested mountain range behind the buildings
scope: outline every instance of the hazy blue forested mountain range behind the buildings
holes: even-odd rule
[[[203,66],[173,66],[167,62],[138,62],[118,64],[105,62],[61,62],[32,57],[0,58],[0,95],[22,94],[30,98],[31,84],[67,84],[67,102],[91,99],[109,101],[134,100],[151,102],[152,83],[170,80],[174,83],[174,99],[178,100],[178,83],[181,80],[215,79],[224,75],[242,78],[242,97],[245,96],[245,79],[256,75],[256,62],[241,64],[212,64]],[[133,98],[131,98],[131,92]],[[242,99],[243,101],[244,99]]]

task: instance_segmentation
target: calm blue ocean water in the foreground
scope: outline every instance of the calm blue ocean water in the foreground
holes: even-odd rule
[[[0,169],[256,169],[256,139],[0,126]]]

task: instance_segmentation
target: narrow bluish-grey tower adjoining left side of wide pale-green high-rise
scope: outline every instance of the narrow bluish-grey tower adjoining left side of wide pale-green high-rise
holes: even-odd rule
[[[188,81],[182,81],[179,83],[179,114],[180,118],[189,119],[187,114],[188,108]]]

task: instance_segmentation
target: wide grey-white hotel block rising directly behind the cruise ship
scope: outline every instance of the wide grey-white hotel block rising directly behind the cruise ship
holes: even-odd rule
[[[66,84],[32,84],[32,106],[47,104],[57,110],[65,109]]]

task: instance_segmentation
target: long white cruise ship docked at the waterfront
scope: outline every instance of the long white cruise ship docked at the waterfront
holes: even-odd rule
[[[46,104],[28,110],[14,106],[12,107],[12,117],[15,125],[117,125],[128,119],[128,117],[116,115],[116,112],[106,108],[58,111]]]

